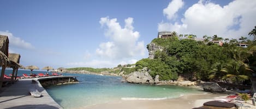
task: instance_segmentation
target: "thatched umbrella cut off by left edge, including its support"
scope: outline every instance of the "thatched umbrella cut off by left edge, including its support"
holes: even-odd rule
[[[0,76],[0,88],[3,84],[4,70],[9,62],[8,59],[9,39],[8,36],[0,35],[0,66],[2,67]]]

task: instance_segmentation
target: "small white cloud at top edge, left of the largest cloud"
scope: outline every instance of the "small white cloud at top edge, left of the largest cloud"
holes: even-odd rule
[[[169,19],[173,19],[176,17],[176,12],[178,9],[182,8],[184,3],[182,0],[172,0],[168,7],[163,10],[163,14]]]

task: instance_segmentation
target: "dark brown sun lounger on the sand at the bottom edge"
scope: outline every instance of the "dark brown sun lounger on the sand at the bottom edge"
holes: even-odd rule
[[[208,101],[204,103],[204,108],[215,108],[215,109],[236,109],[236,104],[219,101]]]

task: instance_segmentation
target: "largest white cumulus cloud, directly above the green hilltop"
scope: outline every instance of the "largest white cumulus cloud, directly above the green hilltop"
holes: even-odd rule
[[[198,37],[217,34],[224,38],[237,39],[240,36],[247,36],[255,26],[255,11],[256,1],[236,0],[224,7],[211,2],[199,1],[184,12],[181,23],[178,21],[160,22],[158,30],[196,34]],[[168,16],[166,17],[169,19]]]

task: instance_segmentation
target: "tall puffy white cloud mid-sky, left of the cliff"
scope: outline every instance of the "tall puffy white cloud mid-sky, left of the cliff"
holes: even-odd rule
[[[117,22],[117,18],[100,18],[99,23],[105,29],[108,42],[100,43],[96,53],[109,59],[126,59],[145,54],[143,41],[138,41],[139,32],[134,31],[133,18],[124,20],[124,27]]]

